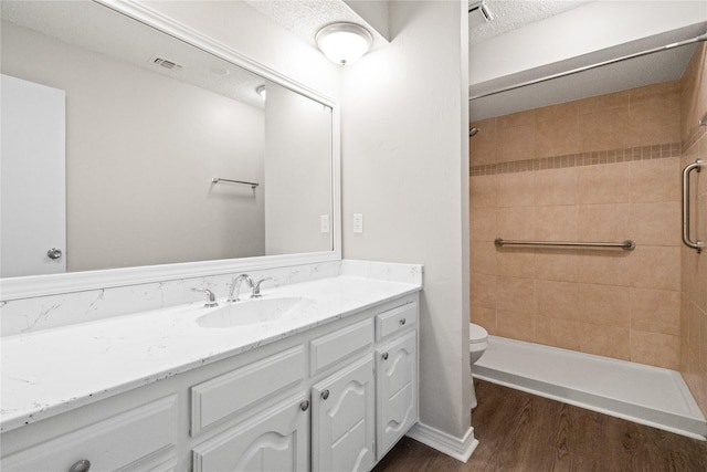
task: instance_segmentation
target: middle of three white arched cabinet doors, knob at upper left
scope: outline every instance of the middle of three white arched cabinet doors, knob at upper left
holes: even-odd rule
[[[369,355],[312,390],[313,470],[370,470],[376,462],[373,359]]]

